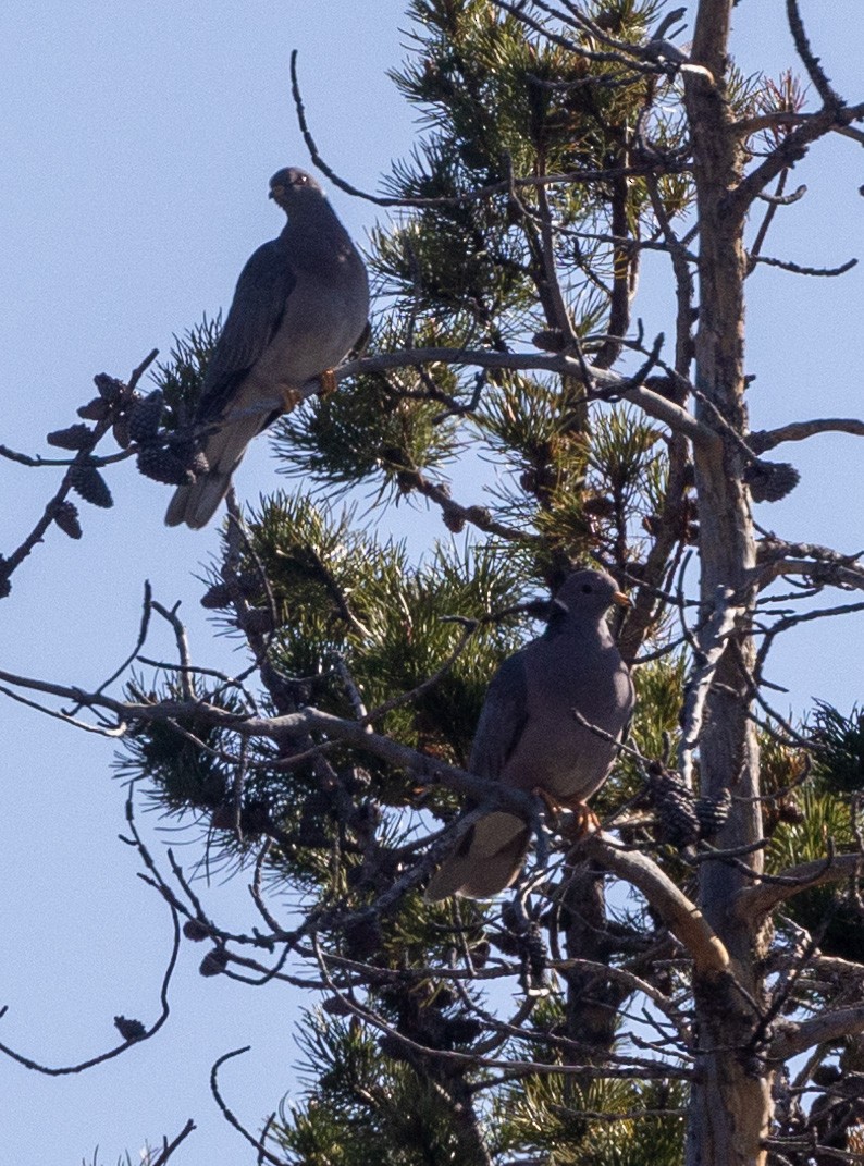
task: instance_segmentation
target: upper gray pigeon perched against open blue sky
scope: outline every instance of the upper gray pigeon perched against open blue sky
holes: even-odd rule
[[[248,442],[294,408],[308,380],[332,386],[332,368],[366,328],[366,268],[318,183],[303,170],[280,170],[271,198],[288,223],[240,273],[195,414],[209,469],[180,486],[168,526],[209,522]],[[282,407],[261,408],[280,399]]]

